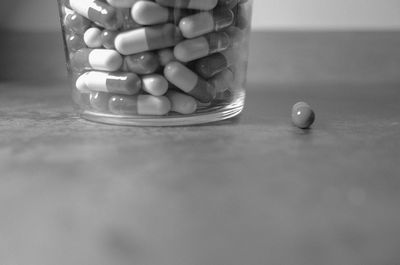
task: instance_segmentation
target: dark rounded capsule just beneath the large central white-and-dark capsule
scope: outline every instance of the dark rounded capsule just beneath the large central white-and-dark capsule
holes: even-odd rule
[[[144,75],[154,73],[160,66],[160,62],[156,53],[142,52],[126,56],[124,65],[127,71]]]

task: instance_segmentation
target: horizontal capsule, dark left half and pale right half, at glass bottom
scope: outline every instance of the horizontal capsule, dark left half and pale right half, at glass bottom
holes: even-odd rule
[[[171,110],[171,103],[165,96],[114,95],[108,102],[109,111],[116,115],[155,115],[162,116]]]

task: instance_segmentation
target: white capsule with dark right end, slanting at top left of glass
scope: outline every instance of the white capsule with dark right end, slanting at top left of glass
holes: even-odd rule
[[[68,6],[78,14],[96,24],[110,30],[116,30],[122,25],[118,10],[99,0],[67,0]]]

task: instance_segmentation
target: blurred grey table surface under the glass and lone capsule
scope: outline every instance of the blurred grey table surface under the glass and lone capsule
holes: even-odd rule
[[[0,64],[1,264],[399,264],[400,60],[351,46],[399,37],[254,34],[239,118],[139,128],[79,119],[46,36],[2,44],[19,59]],[[290,123],[299,100],[312,130]]]

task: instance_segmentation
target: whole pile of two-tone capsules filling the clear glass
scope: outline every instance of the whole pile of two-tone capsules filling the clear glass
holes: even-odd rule
[[[247,0],[61,0],[67,60],[91,111],[193,114],[244,82]]]

